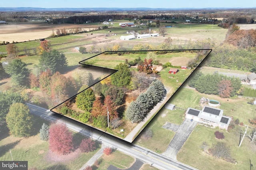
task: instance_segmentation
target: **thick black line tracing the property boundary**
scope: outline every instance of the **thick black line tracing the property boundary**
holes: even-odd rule
[[[141,50],[141,51],[104,51],[104,52],[102,52],[102,53],[99,53],[99,54],[97,54],[97,55],[94,55],[94,56],[92,56],[92,57],[89,57],[88,59],[85,59],[85,60],[82,60],[82,61],[80,61],[78,64],[83,64],[83,65],[87,65],[87,66],[94,66],[94,65],[90,65],[90,64],[84,64],[84,63],[82,63],[82,62],[84,62],[84,61],[88,61],[88,60],[90,60],[90,59],[92,59],[92,58],[94,58],[94,57],[96,57],[96,56],[98,56],[98,55],[101,55],[101,54],[103,54],[103,53],[118,53],[118,52],[120,52],[120,53],[136,53],[136,52],[148,52],[148,51],[200,51],[200,50],[210,50],[210,52],[204,57],[204,59],[196,66],[196,68],[206,59],[206,57],[212,52],[212,49],[181,49],[181,50]],[[105,69],[109,69],[109,70],[113,70],[114,71],[114,73],[116,73],[116,72],[118,72],[118,70],[115,70],[115,69],[112,69],[112,68],[106,68],[106,67],[100,67],[100,66],[94,66],[94,67],[98,67],[98,68],[105,68]],[[196,68],[194,69],[194,70],[196,70]],[[192,71],[190,74],[189,74],[189,76],[182,82],[182,84],[191,76],[191,74],[193,73],[194,71]],[[112,73],[112,74],[114,74],[114,73]],[[110,74],[110,75],[108,75],[108,76],[106,76],[105,78],[107,78],[107,77],[109,77],[109,76],[111,76],[112,74]],[[102,81],[102,80],[104,80],[105,78],[103,78],[103,79],[101,79],[101,80],[99,80],[98,82],[100,82],[100,81]],[[92,87],[92,86],[94,86],[95,84],[97,84],[98,82],[96,82],[96,83],[94,83],[94,84],[92,84],[91,86],[89,86],[88,88],[90,88],[90,87]],[[180,86],[182,86],[182,84],[180,85]],[[88,88],[86,88],[86,89],[88,89]],[[86,90],[86,89],[84,89],[84,90]],[[179,88],[178,88],[179,89]],[[178,89],[172,94],[172,96],[178,91]],[[79,92],[78,94],[80,94],[80,93],[82,93],[82,92],[84,92],[84,90],[82,90],[81,92]],[[65,103],[65,102],[67,102],[68,100],[70,100],[70,99],[72,99],[72,98],[74,98],[75,96],[77,96],[78,94],[76,94],[76,95],[74,95],[74,96],[72,96],[72,97],[70,97],[70,98],[68,98],[67,100],[65,100],[64,102],[62,102],[62,103],[60,103],[60,104],[58,104],[57,106],[55,106],[55,107],[53,107],[52,109],[50,109],[50,111],[52,111],[52,112],[54,112],[54,113],[57,113],[56,111],[53,111],[53,109],[55,109],[56,107],[58,107],[58,106],[60,106],[60,105],[62,105],[63,103]],[[171,97],[172,97],[171,96]],[[170,99],[169,99],[170,100]],[[60,114],[60,113],[57,113],[57,114],[59,114],[59,115],[62,115],[62,114]],[[65,115],[62,115],[62,116],[65,116]],[[67,117],[67,116],[65,116],[65,117]],[[70,118],[70,117],[67,117],[67,118],[69,118],[69,119],[72,119],[72,118]],[[153,119],[153,117],[150,119],[150,121]],[[75,119],[72,119],[72,120],[74,120],[74,121],[77,121],[77,120],[75,120]],[[78,123],[82,123],[82,122],[80,122],[80,121],[77,121]],[[149,122],[148,122],[149,123]],[[148,124],[147,123],[147,124]],[[85,124],[85,123],[83,123],[84,125],[87,125],[87,124]],[[87,125],[87,126],[90,126],[90,125]],[[90,126],[90,127],[92,127],[92,126]],[[96,127],[92,127],[92,128],[94,128],[94,129],[97,129]],[[100,130],[100,131],[102,131],[101,129],[98,129],[98,130]],[[103,131],[102,131],[103,132]],[[109,133],[108,133],[109,134]],[[110,134],[110,135],[112,135],[112,134]],[[114,136],[114,135],[112,135],[112,136]],[[114,136],[114,137],[116,137],[116,136]],[[121,139],[121,138],[120,138]],[[125,140],[124,140],[125,141]]]

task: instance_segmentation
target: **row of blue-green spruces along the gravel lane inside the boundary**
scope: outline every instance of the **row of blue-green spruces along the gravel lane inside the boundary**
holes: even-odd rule
[[[160,80],[154,80],[148,90],[131,102],[126,109],[126,117],[132,123],[140,123],[148,115],[151,109],[166,96],[166,90]]]

